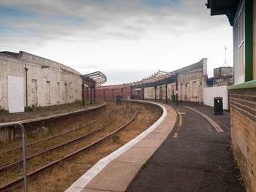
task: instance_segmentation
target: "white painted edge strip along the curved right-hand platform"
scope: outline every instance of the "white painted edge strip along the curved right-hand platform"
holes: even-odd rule
[[[143,101],[146,103],[153,103],[150,101]],[[156,104],[156,103],[154,103]],[[105,168],[111,161],[113,161],[115,158],[117,158],[119,155],[123,154],[129,148],[131,148],[133,145],[137,144],[140,142],[141,139],[146,137],[151,131],[154,131],[157,126],[159,126],[160,123],[165,119],[167,115],[167,110],[164,106],[161,104],[157,104],[159,107],[162,107],[162,116],[157,120],[156,123],[154,123],[152,126],[150,126],[146,131],[143,131],[138,137],[135,137],[135,139],[132,139],[130,142],[127,142],[126,145],[118,148],[118,150],[114,151],[113,153],[110,153],[110,155],[106,156],[105,158],[102,158],[95,164],[94,166],[91,167],[85,174],[83,174],[75,183],[73,183],[65,192],[79,192],[82,191],[83,188],[99,173],[102,171],[102,169]]]

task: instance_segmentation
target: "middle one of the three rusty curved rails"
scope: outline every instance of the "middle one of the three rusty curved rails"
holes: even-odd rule
[[[111,110],[111,111],[112,111],[112,110]],[[110,121],[108,121],[107,123],[105,123],[103,126],[100,126],[99,128],[96,128],[94,131],[90,131],[90,132],[87,133],[87,134],[83,134],[83,135],[81,135],[81,136],[79,136],[79,137],[75,137],[75,138],[73,138],[73,139],[69,139],[67,142],[63,142],[63,143],[61,143],[61,144],[59,144],[59,145],[55,145],[55,146],[53,146],[53,147],[49,147],[48,149],[41,150],[41,151],[39,151],[39,152],[37,152],[37,153],[34,153],[34,154],[32,154],[32,155],[29,155],[29,156],[26,158],[26,160],[29,160],[29,159],[31,159],[31,158],[35,158],[35,157],[37,157],[37,156],[39,156],[39,155],[43,155],[43,154],[48,153],[48,152],[51,152],[51,151],[53,151],[53,150],[57,150],[57,149],[59,149],[59,148],[61,148],[61,147],[65,147],[66,145],[71,145],[73,142],[77,142],[77,141],[79,141],[80,139],[85,139],[86,137],[89,137],[91,134],[95,134],[95,133],[97,133],[98,131],[101,131],[103,128],[105,128],[105,126],[107,126],[108,124],[110,124],[110,123],[112,123],[114,120],[116,120],[116,119],[118,118],[118,116],[121,115],[121,112],[122,112],[122,110],[118,113],[118,115],[116,115],[116,117],[112,118]],[[95,120],[94,120],[94,122],[95,122]],[[83,126],[83,127],[84,127],[84,126]],[[10,164],[4,164],[4,165],[0,166],[0,172],[4,172],[4,171],[6,171],[6,170],[13,169],[15,166],[18,166],[18,165],[20,165],[20,164],[22,164],[22,163],[23,163],[23,158],[20,158],[20,159],[18,159],[18,160],[16,160],[16,161],[12,162],[12,163],[10,163]]]

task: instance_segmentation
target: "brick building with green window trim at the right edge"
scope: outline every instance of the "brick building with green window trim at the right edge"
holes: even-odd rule
[[[256,191],[256,0],[208,0],[211,15],[227,15],[233,26],[233,82],[227,87],[233,153],[246,191]],[[232,35],[232,34],[230,34]]]

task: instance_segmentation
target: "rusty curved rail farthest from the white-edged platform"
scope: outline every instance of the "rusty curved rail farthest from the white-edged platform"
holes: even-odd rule
[[[59,133],[59,134],[55,134],[55,135],[53,135],[53,136],[46,137],[46,138],[44,138],[44,139],[40,139],[40,140],[35,141],[35,142],[31,142],[31,143],[27,144],[26,147],[29,147],[29,146],[31,146],[31,145],[35,145],[35,144],[37,144],[37,143],[39,143],[39,142],[43,142],[43,141],[46,141],[46,140],[54,139],[54,138],[59,137],[59,136],[61,136],[61,135],[63,135],[63,134],[67,134],[67,133],[69,133],[69,132],[78,130],[78,129],[80,129],[80,128],[85,128],[86,126],[89,126],[89,125],[91,125],[92,123],[95,123],[95,122],[97,122],[98,120],[101,120],[102,118],[108,117],[108,115],[110,115],[112,112],[113,112],[113,110],[110,110],[110,111],[109,111],[108,113],[106,113],[105,115],[102,115],[101,117],[99,117],[99,118],[97,118],[97,119],[95,119],[95,120],[91,120],[91,122],[86,123],[86,124],[83,125],[82,127],[78,127],[78,128],[69,128],[69,129],[67,129],[66,131],[63,131],[63,132],[61,132],[61,133]],[[10,149],[10,150],[5,150],[5,151],[1,152],[0,154],[11,153],[12,151],[15,151],[15,150],[22,150],[22,146],[15,147],[15,148],[12,148],[12,149]],[[1,167],[1,166],[0,166],[0,167]],[[1,170],[1,169],[0,169],[0,170]]]

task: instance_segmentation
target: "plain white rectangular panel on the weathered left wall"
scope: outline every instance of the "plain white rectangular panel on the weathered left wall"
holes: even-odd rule
[[[8,110],[24,112],[23,77],[8,76]]]

